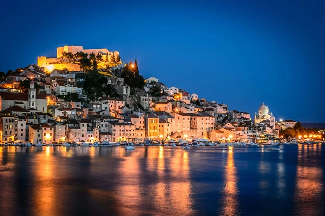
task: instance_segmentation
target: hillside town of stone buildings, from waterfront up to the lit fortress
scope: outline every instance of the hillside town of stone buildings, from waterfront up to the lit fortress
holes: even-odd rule
[[[177,86],[168,87],[155,77],[145,79],[144,88],[132,94],[123,78],[109,77],[109,84],[120,98],[103,95],[87,102],[87,95],[78,86],[78,74],[84,72],[62,56],[64,51],[100,54],[108,61],[119,55],[107,49],[64,46],[57,49],[56,58],[39,57],[38,65],[8,75],[6,82],[0,84],[1,142],[93,143],[144,138],[258,141],[262,137],[279,138],[279,130],[296,123],[276,122],[264,103],[252,120],[247,112],[231,110],[224,103],[208,101]],[[114,65],[122,66],[122,62]],[[24,91],[19,84],[26,80],[29,87]],[[154,88],[158,88],[160,96],[152,96]],[[64,97],[69,95],[76,95],[83,102],[68,102]]]

